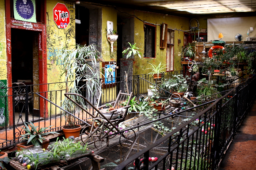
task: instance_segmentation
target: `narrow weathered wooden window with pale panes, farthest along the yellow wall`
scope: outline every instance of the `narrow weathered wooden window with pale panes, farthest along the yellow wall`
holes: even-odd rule
[[[168,29],[167,31],[167,49],[166,49],[166,71],[173,71],[174,59],[174,31]]]

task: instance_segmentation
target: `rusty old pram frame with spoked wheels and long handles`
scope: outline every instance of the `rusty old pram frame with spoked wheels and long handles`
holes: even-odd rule
[[[74,93],[65,93],[64,95],[92,117],[91,126],[85,126],[82,130],[81,140],[84,143],[87,143],[87,145],[91,145],[92,143],[94,143],[94,146],[97,149],[103,149],[108,146],[109,139],[116,136],[112,135],[112,133],[117,133],[120,131],[117,126],[120,122],[124,120],[125,116],[127,115],[128,108],[131,107],[131,105],[128,104],[130,103],[130,100],[132,98],[132,92],[130,94],[126,94],[122,93],[121,90],[117,95],[116,100],[109,103],[113,104],[113,110],[109,111],[109,113],[106,113],[108,108],[104,108],[108,104],[100,107],[95,107],[82,95]],[[86,108],[80,106],[80,104],[76,103],[68,95],[76,95],[83,98],[87,104],[94,108],[96,115],[91,114]],[[121,140],[121,137],[123,137],[124,139]],[[119,139],[120,145],[123,147],[129,147],[134,143],[135,138],[136,134],[134,130],[129,130],[125,133],[121,133]]]

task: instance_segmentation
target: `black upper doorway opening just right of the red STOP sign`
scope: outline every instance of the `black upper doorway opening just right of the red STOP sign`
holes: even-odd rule
[[[76,5],[76,19],[81,21],[81,24],[76,23],[76,44],[88,46],[89,44],[89,9],[80,5]]]

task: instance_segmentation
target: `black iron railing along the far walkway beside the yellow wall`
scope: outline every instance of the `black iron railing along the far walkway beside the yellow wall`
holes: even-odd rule
[[[182,74],[182,71],[166,72],[164,79],[173,78],[173,75]],[[150,85],[155,84],[155,80],[151,75],[132,75],[125,77],[117,77],[118,80],[114,84],[103,84],[102,94],[96,93],[96,97],[91,97],[89,91],[85,89],[81,91],[82,95],[94,105],[101,106],[104,103],[112,102],[116,99],[117,92],[133,92],[134,96],[146,94]],[[101,82],[101,80],[100,80]],[[103,82],[103,81],[102,81]],[[40,91],[40,86],[46,86],[46,91]],[[8,93],[8,92],[12,93]],[[34,84],[0,88],[0,101],[2,102],[0,112],[0,148],[10,147],[19,142],[20,135],[24,132],[21,127],[23,122],[31,121],[37,123],[39,127],[51,127],[51,131],[59,131],[66,124],[65,119],[61,119],[61,109],[56,107],[62,106],[64,99],[65,82]],[[9,94],[9,95],[8,95]],[[12,94],[12,95],[10,95]],[[50,102],[42,98],[48,99]],[[98,101],[97,101],[98,100]],[[12,110],[8,110],[8,105],[12,104]],[[244,107],[244,106],[243,106]],[[88,107],[89,110],[92,108]],[[87,114],[78,112],[76,116],[82,120],[89,118]],[[81,123],[81,122],[77,122]]]

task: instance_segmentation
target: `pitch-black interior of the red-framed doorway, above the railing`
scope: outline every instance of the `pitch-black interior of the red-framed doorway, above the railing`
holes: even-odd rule
[[[33,40],[33,31],[11,29],[12,83],[33,82]]]

